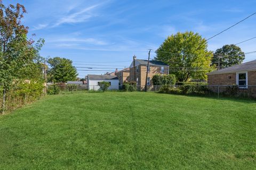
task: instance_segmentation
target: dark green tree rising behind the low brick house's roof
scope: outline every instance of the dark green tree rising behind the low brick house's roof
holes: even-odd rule
[[[219,66],[218,63],[220,60],[219,67],[220,69],[224,69],[226,67],[230,67],[236,64],[241,64],[244,58],[244,52],[242,52],[240,47],[234,44],[225,45],[215,51],[215,53],[213,54],[211,65]]]

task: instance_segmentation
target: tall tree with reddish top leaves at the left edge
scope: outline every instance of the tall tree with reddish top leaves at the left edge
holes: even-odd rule
[[[27,38],[28,27],[21,23],[23,5],[3,5],[0,1],[0,85],[9,89],[14,81],[42,80],[39,64],[44,40]]]

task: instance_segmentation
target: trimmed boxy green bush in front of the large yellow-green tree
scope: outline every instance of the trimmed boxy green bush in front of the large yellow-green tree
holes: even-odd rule
[[[174,74],[155,74],[152,78],[152,81],[154,85],[174,85],[176,83],[176,77]]]

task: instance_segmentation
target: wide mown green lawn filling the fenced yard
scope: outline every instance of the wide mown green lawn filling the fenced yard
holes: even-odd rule
[[[256,102],[47,96],[0,116],[0,169],[256,169]]]

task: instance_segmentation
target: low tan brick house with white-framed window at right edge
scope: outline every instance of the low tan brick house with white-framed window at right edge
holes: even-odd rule
[[[234,85],[256,96],[256,60],[234,65],[207,74],[209,85]],[[253,85],[253,86],[252,86]],[[250,87],[251,86],[251,87]]]

